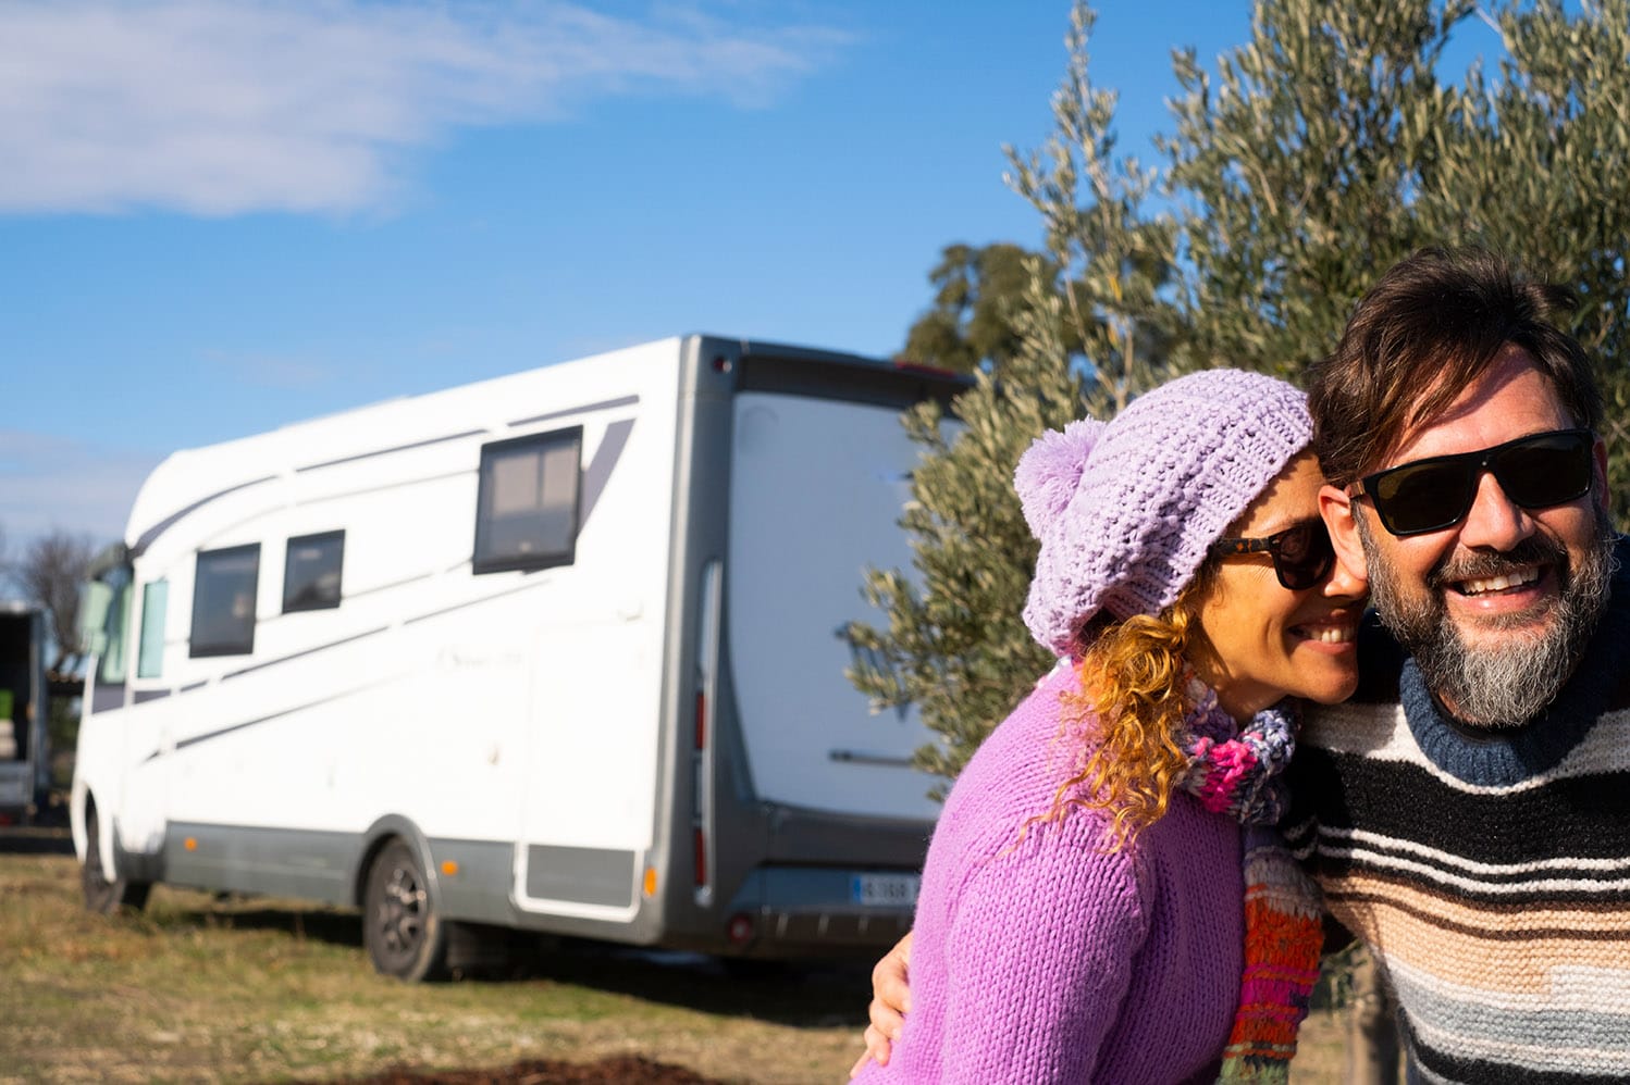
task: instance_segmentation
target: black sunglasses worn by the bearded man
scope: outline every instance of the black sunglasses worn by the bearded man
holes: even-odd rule
[[[1428,456],[1358,481],[1392,534],[1425,534],[1465,520],[1483,471],[1522,508],[1547,508],[1583,497],[1594,476],[1589,430],[1557,430],[1456,456]]]

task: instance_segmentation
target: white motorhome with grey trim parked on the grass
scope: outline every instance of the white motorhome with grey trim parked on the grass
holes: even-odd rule
[[[411,979],[491,927],[892,942],[929,735],[841,630],[962,386],[689,336],[174,453],[83,608],[86,903],[360,906]]]

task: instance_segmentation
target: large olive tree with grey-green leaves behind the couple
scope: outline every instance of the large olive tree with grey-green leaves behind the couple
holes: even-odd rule
[[[1498,75],[1474,65],[1443,83],[1449,34],[1474,16],[1504,42]],[[993,358],[999,380],[954,406],[960,432],[911,415],[918,583],[870,573],[887,627],[849,630],[869,648],[852,681],[879,707],[923,710],[942,741],[919,762],[947,777],[1046,663],[1017,617],[1035,556],[1011,494],[1019,453],[1175,371],[1299,378],[1421,244],[1487,244],[1583,298],[1573,331],[1601,365],[1622,523],[1630,497],[1630,0],[1573,13],[1557,0],[1258,0],[1250,39],[1214,77],[1174,55],[1182,94],[1157,171],[1115,156],[1115,93],[1089,78],[1092,20],[1077,2],[1051,138],[1009,152],[1045,236],[1009,316],[1015,340]],[[1169,200],[1157,210],[1154,189]]]

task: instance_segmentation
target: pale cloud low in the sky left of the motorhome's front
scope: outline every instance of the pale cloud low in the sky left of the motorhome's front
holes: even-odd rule
[[[117,539],[163,456],[0,430],[0,531],[10,547],[52,529]]]

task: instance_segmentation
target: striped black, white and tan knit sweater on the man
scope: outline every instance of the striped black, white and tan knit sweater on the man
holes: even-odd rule
[[[1382,963],[1420,1080],[1630,1078],[1627,569],[1524,728],[1452,725],[1377,626],[1358,696],[1309,714],[1286,836]]]

